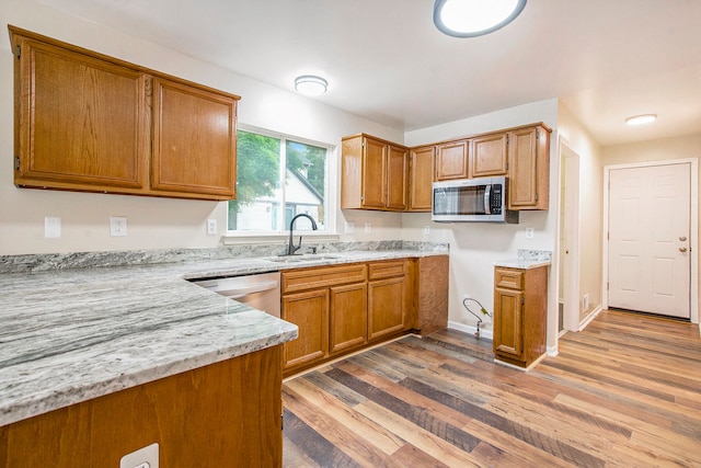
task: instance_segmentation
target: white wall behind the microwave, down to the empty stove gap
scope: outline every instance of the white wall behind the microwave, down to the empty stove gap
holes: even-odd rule
[[[450,298],[449,320],[474,327],[474,319],[462,306],[462,297],[469,294],[491,312],[494,303],[494,265],[497,260],[516,258],[518,249],[554,251],[558,219],[558,100],[547,100],[517,107],[506,109],[476,117],[451,122],[430,128],[410,132],[404,135],[404,144],[416,146],[451,138],[482,134],[502,128],[516,127],[543,122],[553,129],[550,142],[550,209],[548,212],[521,212],[518,225],[492,224],[435,224],[430,214],[402,215],[402,239],[430,240],[450,243]],[[424,233],[424,226],[430,233]],[[526,228],[532,227],[535,236],[526,238]],[[554,318],[555,331],[548,338],[549,346],[556,341],[558,294],[553,271],[549,279],[549,330]],[[485,323],[485,335],[491,334],[492,323]]]

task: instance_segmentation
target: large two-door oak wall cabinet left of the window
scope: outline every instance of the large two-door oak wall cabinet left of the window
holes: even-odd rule
[[[15,185],[235,196],[239,96],[9,28]]]

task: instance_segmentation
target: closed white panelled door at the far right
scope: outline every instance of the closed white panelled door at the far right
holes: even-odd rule
[[[690,164],[609,175],[609,308],[690,318]]]

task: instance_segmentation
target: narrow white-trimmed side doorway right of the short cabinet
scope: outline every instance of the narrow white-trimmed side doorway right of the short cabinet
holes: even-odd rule
[[[564,216],[566,247],[568,254],[559,256],[559,267],[562,272],[562,299],[564,303],[562,311],[562,326],[564,331],[579,330],[579,164],[581,157],[574,151],[567,141],[560,137],[560,192],[558,196],[562,198],[562,186],[565,184],[565,197],[560,199],[560,206]],[[558,229],[561,229],[560,222]],[[561,252],[560,240],[562,236],[558,235],[558,252]],[[560,281],[560,277],[558,278]],[[560,289],[560,288],[558,288]],[[560,301],[560,297],[558,297]]]

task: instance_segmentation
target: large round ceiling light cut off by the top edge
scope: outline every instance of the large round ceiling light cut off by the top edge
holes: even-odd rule
[[[434,23],[455,37],[476,37],[506,26],[526,7],[526,0],[436,0]]]

